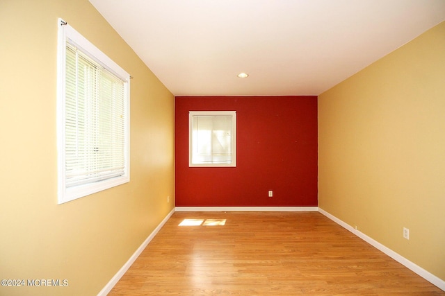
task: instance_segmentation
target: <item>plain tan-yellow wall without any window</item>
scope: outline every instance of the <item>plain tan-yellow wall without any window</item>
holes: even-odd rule
[[[445,280],[445,22],[318,97],[318,205]]]

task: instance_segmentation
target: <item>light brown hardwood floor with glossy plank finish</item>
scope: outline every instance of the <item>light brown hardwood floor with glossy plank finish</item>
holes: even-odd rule
[[[108,295],[445,292],[318,212],[176,212]]]

